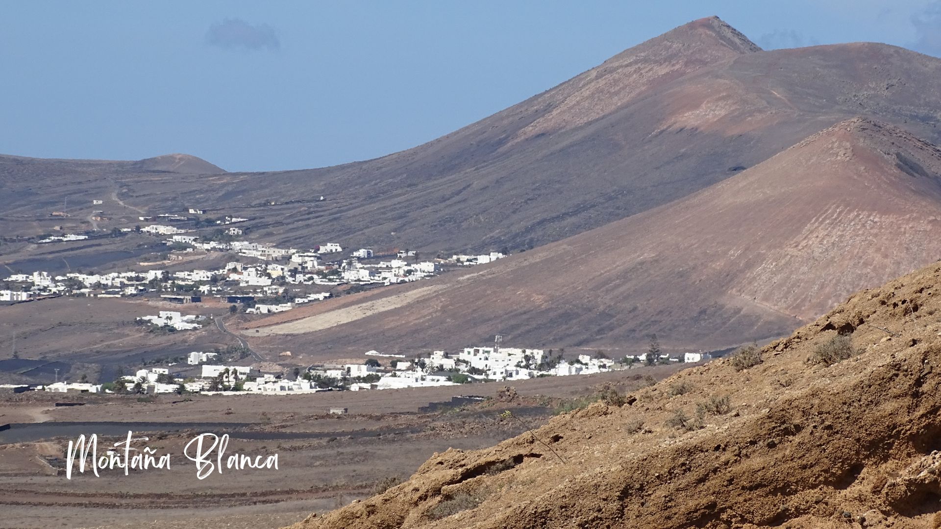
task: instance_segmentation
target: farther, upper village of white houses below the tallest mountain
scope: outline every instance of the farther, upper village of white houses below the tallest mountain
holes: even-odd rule
[[[233,219],[240,220],[240,219]],[[153,225],[148,228],[167,232],[164,228],[176,230],[170,226]],[[169,231],[169,232],[172,232]],[[434,277],[441,270],[441,264],[483,264],[503,256],[491,252],[476,256],[455,255],[451,259],[409,263],[405,258],[417,256],[413,250],[400,251],[388,261],[364,264],[353,257],[327,263],[325,255],[343,251],[336,243],[327,243],[319,247],[300,251],[295,248],[275,248],[270,245],[247,241],[222,243],[202,241],[196,235],[173,234],[167,244],[182,244],[193,248],[217,249],[236,252],[258,261],[254,264],[232,261],[221,268],[204,270],[147,270],[142,272],[125,271],[104,274],[70,272],[52,276],[44,271],[32,274],[13,274],[6,278],[10,283],[20,283],[16,289],[0,290],[0,301],[18,302],[56,297],[63,295],[86,297],[132,297],[151,292],[162,292],[168,300],[193,301],[203,296],[223,298],[238,297],[243,302],[252,298],[247,313],[279,313],[294,309],[298,305],[320,301],[330,297],[325,292],[331,287],[354,285],[390,285],[408,281],[420,281]],[[192,248],[186,248],[192,251]],[[185,251],[183,251],[185,253]],[[373,257],[373,251],[361,248],[354,254]],[[180,255],[171,253],[170,259]],[[417,261],[417,259],[413,259]],[[292,287],[286,292],[286,287]],[[311,285],[313,288],[300,287]],[[320,292],[311,292],[320,290]],[[174,294],[176,293],[176,294]],[[254,297],[279,297],[277,303],[254,303]],[[149,320],[159,325],[160,320],[169,319],[170,327],[178,330],[196,329],[194,321],[181,321],[172,314],[148,316]],[[147,319],[145,318],[145,319]]]

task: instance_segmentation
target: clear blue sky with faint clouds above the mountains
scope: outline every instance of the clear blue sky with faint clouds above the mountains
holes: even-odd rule
[[[941,56],[941,1],[8,1],[0,153],[229,170],[400,151],[696,18],[766,48]]]

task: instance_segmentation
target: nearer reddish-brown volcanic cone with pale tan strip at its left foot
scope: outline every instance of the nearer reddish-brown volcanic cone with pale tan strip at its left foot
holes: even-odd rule
[[[939,228],[941,151],[846,120],[685,199],[467,273],[266,318],[247,335],[333,352],[492,334],[617,350],[657,333],[664,345],[718,349],[780,336],[937,260]]]

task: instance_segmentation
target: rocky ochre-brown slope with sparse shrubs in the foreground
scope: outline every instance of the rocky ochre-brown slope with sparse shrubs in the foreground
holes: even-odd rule
[[[941,264],[859,292],[759,355],[437,454],[295,528],[938,526]]]

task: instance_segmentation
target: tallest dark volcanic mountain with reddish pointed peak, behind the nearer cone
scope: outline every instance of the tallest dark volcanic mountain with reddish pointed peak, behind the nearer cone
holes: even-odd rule
[[[172,185],[160,172],[102,178],[152,213],[199,203],[297,248],[518,251],[685,197],[854,116],[938,143],[939,77],[941,60],[885,44],[761,51],[711,17],[375,160]]]

